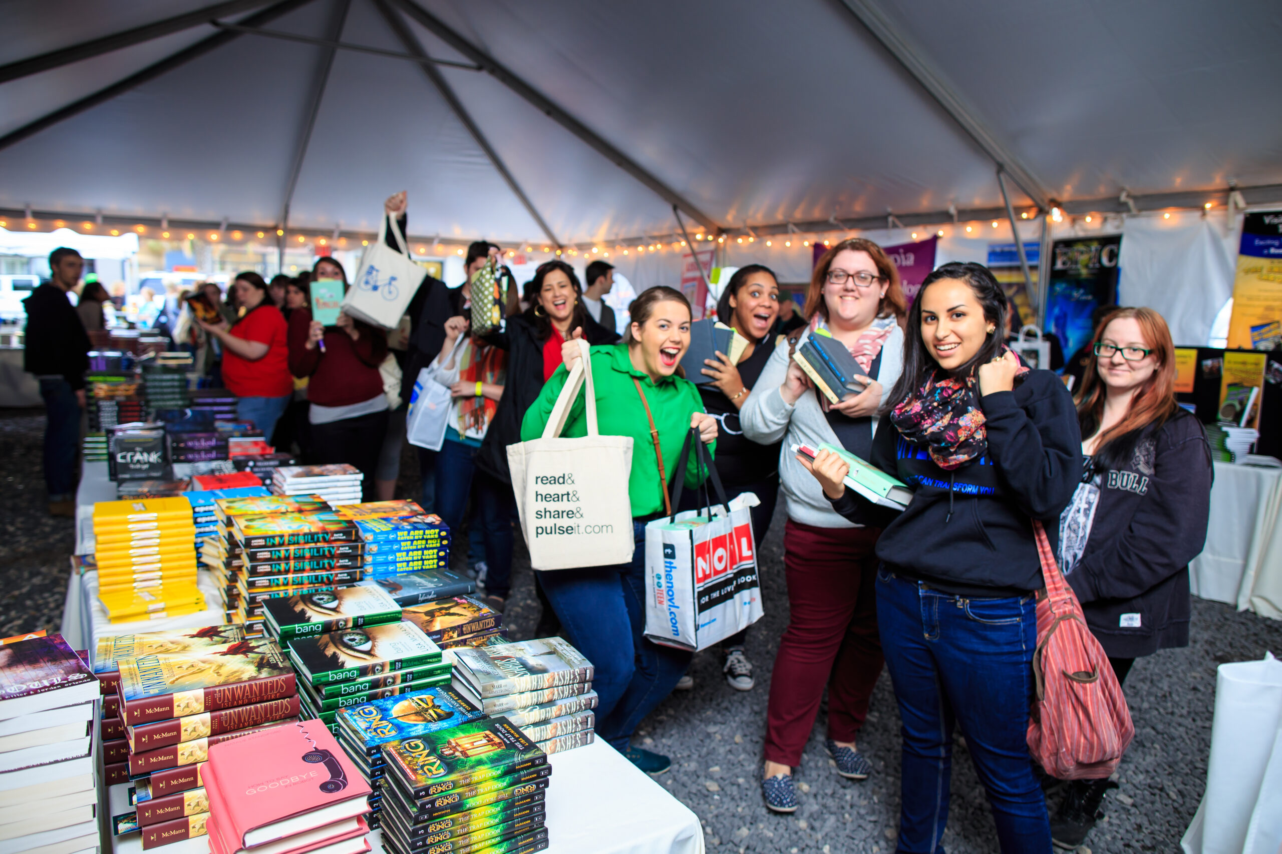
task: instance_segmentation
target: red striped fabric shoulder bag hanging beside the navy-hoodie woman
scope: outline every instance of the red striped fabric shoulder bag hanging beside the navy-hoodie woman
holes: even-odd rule
[[[1077,595],[1059,574],[1046,529],[1033,520],[1033,531],[1046,595],[1037,602],[1037,697],[1028,720],[1028,750],[1059,780],[1108,777],[1135,737],[1131,709]]]

